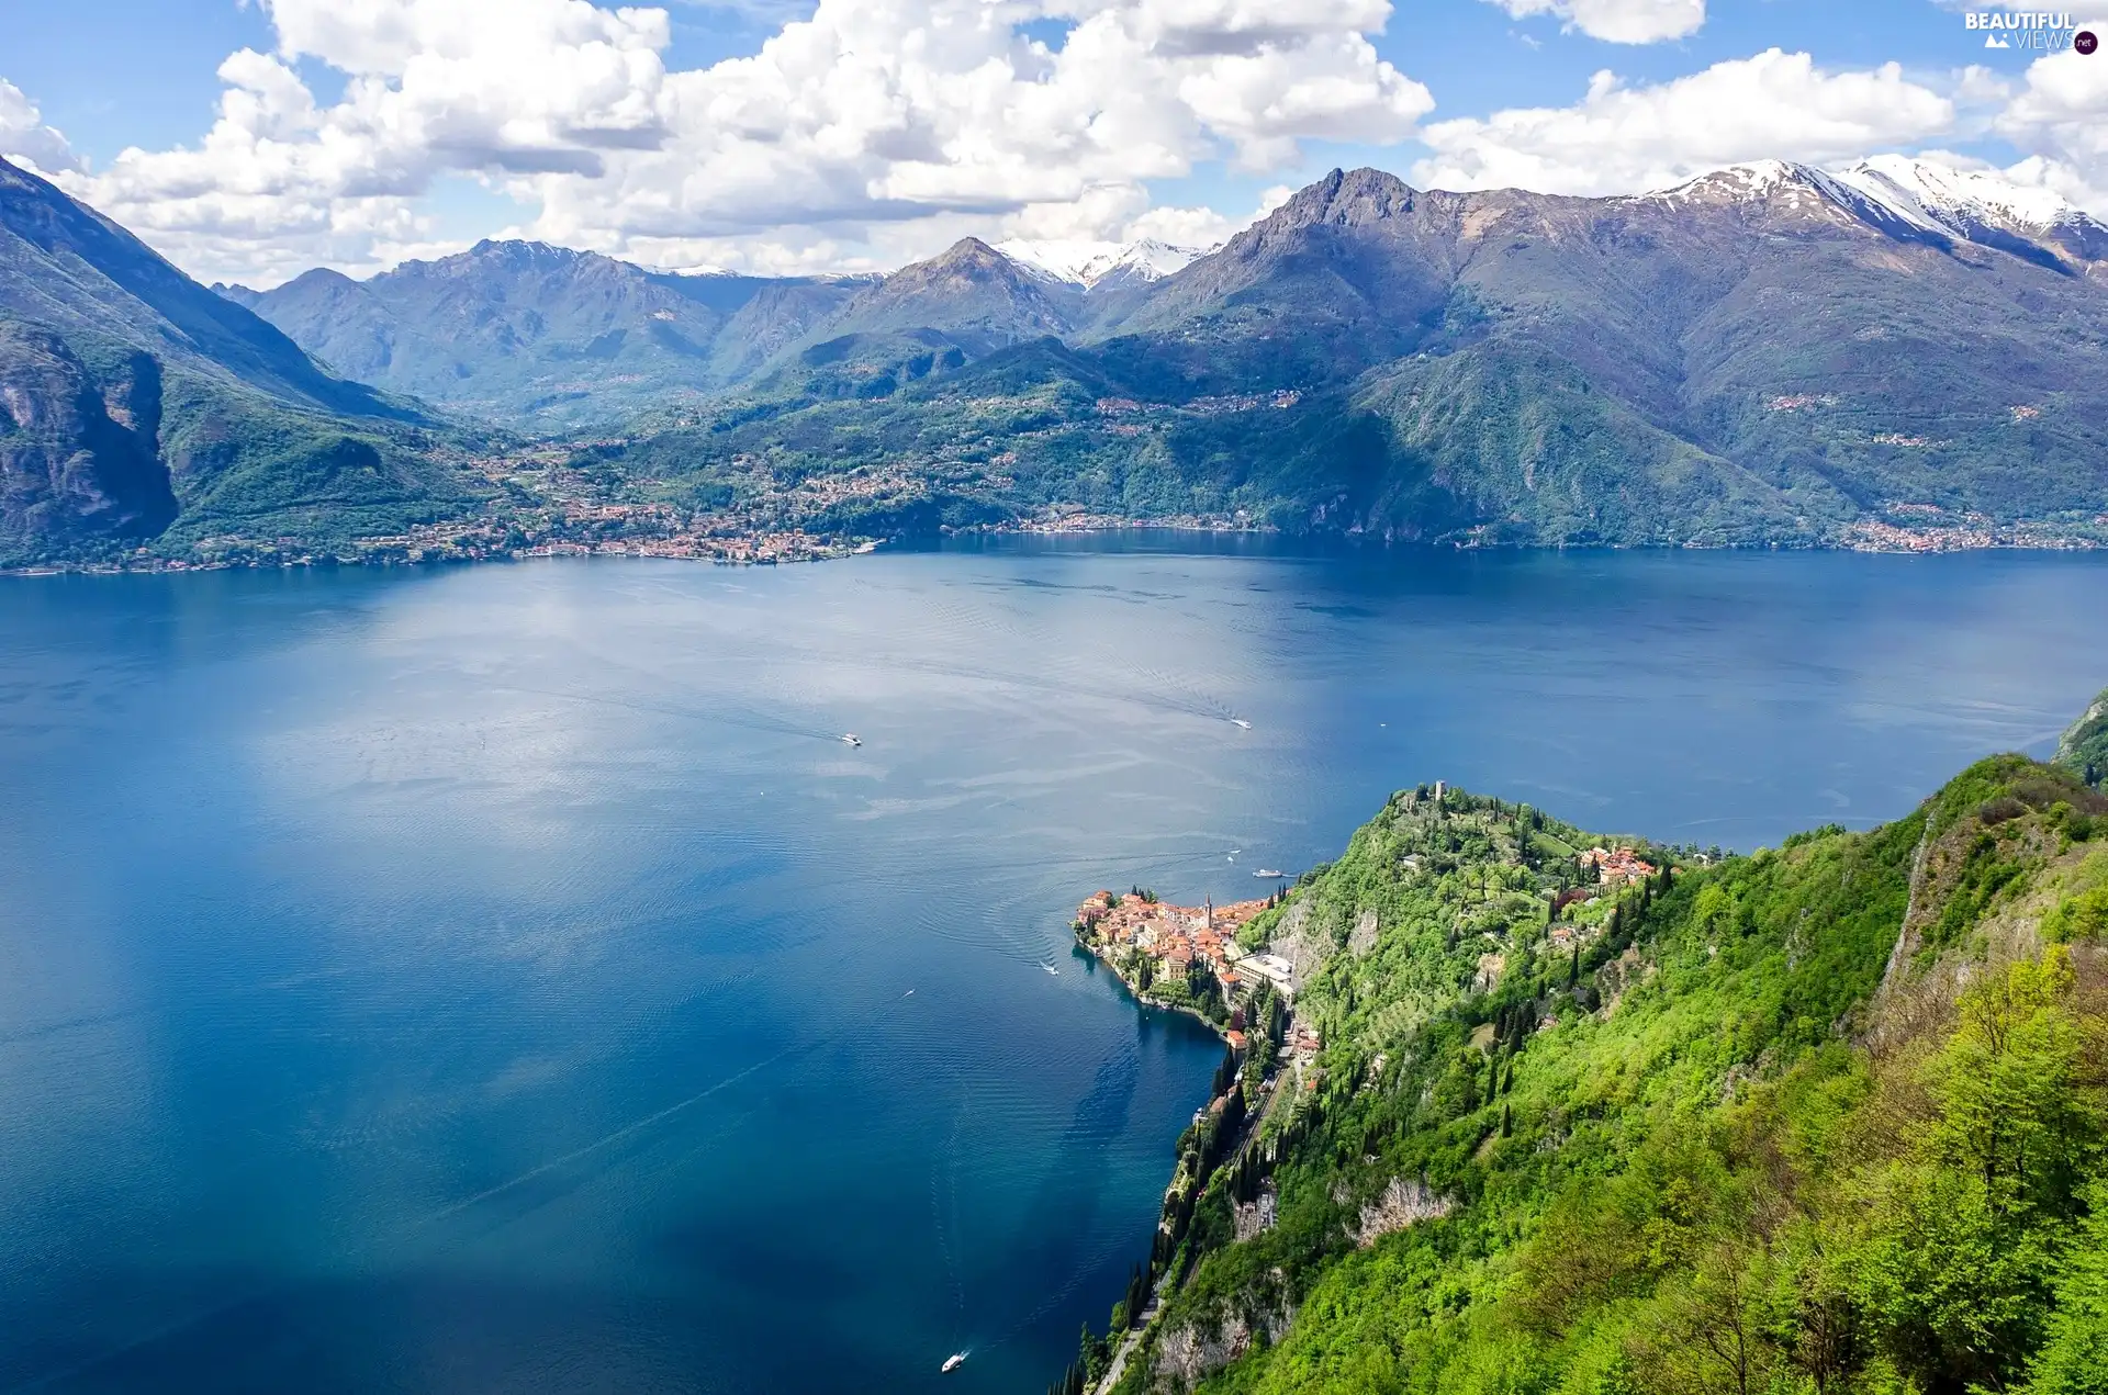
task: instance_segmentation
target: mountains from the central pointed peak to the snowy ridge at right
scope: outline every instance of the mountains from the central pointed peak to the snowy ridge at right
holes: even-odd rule
[[[1001,480],[871,527],[934,506],[1562,546],[2097,539],[2102,251],[2068,204],[1904,160],[1629,198],[1334,171],[1109,297],[961,242],[628,459]]]

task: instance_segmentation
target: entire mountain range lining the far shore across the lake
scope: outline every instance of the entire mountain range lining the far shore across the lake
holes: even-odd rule
[[[0,415],[11,554],[354,495],[464,508],[443,421],[620,434],[594,468],[645,499],[750,489],[757,461],[883,476],[809,518],[873,535],[1048,510],[1514,544],[2108,535],[2108,228],[1901,156],[1621,198],[1334,171],[1212,251],[963,238],[767,278],[481,242],[219,295],[23,171],[0,196],[0,381],[46,405]],[[143,375],[173,415],[129,405]],[[312,468],[333,440],[373,451],[365,493]]]

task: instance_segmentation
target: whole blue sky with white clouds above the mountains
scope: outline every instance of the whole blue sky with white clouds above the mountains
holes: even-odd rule
[[[2108,53],[2057,27],[2108,38],[2095,4],[0,0],[0,156],[259,289],[487,236],[755,272],[1206,247],[1360,164],[1629,194],[1904,152],[2108,215]]]

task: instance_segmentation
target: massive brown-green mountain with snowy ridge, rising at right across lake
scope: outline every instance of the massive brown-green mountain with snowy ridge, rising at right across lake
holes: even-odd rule
[[[1098,352],[1151,396],[1345,398],[1387,459],[1341,506],[1391,535],[1427,531],[1427,483],[1537,542],[2100,512],[2108,295],[2070,251],[2093,234],[2015,251],[2019,219],[1956,209],[1935,228],[1779,162],[1600,200],[1334,173]]]

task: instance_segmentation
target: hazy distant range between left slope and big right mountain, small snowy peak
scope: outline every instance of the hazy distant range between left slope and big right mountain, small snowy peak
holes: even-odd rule
[[[1155,240],[965,238],[892,276],[738,276],[479,242],[369,280],[314,270],[272,291],[213,289],[348,377],[561,434],[750,384],[862,396],[1073,335],[1199,255]]]

